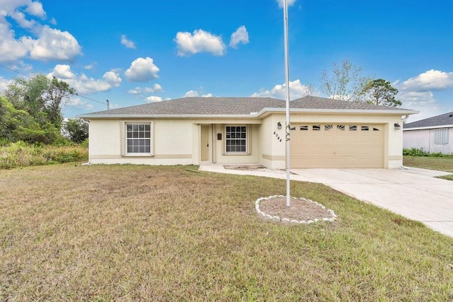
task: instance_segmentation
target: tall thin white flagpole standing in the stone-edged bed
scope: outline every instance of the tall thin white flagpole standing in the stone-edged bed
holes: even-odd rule
[[[285,83],[286,83],[286,206],[289,207],[291,194],[289,192],[289,50],[288,50],[288,6],[287,0],[283,1],[283,23],[285,28]]]

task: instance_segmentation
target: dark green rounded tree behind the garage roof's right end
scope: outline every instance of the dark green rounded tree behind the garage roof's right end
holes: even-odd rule
[[[377,79],[368,81],[360,96],[369,104],[396,107],[402,104],[401,100],[396,100],[396,93],[398,89],[392,87],[389,81]]]

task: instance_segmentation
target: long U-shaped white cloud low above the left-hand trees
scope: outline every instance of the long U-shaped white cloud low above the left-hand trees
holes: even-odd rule
[[[71,71],[69,65],[58,64],[48,76],[55,76],[57,79],[65,81],[80,94],[91,94],[110,91],[114,87],[121,85],[120,75],[110,70],[105,72],[102,79],[88,78],[85,74],[77,76]]]

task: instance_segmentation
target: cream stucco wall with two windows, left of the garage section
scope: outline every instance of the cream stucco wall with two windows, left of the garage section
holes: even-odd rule
[[[125,122],[152,122],[152,156],[125,156]],[[218,121],[217,121],[218,122]],[[149,165],[198,165],[200,161],[201,127],[210,126],[210,162],[258,163],[260,120],[90,120],[90,163],[136,163]],[[226,154],[224,125],[248,126],[248,154]],[[222,139],[217,140],[217,133]]]

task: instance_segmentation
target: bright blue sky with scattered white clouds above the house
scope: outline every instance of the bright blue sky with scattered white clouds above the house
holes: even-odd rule
[[[0,0],[0,91],[57,76],[64,115],[190,96],[285,98],[282,0]],[[288,0],[291,97],[348,59],[390,81],[409,122],[453,111],[453,1]],[[13,72],[9,69],[13,69]],[[98,103],[99,102],[99,103]]]

